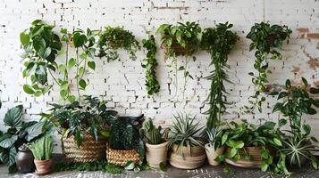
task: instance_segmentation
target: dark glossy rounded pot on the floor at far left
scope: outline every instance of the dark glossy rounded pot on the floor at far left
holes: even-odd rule
[[[22,174],[33,173],[36,166],[33,162],[34,157],[32,152],[26,146],[21,146],[18,150],[15,156],[18,171]]]

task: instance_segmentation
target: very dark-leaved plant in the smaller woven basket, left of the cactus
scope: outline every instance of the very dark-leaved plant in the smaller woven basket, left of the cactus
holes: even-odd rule
[[[143,160],[144,143],[139,136],[139,129],[144,121],[143,117],[144,115],[111,117],[108,120],[108,125],[110,125],[110,138],[106,150],[108,163],[117,166],[127,166],[128,163],[132,163],[137,166]]]

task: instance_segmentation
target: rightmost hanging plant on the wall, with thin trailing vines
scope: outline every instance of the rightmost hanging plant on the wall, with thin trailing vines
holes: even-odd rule
[[[269,23],[261,22],[256,23],[246,36],[252,41],[249,51],[256,50],[254,68],[257,71],[256,73],[248,73],[253,77],[252,82],[255,85],[255,93],[249,99],[252,106],[245,106],[246,113],[254,113],[255,109],[262,112],[262,105],[265,101],[263,93],[266,92],[267,85],[269,85],[267,73],[271,73],[271,70],[268,69],[269,59],[282,59],[279,50],[284,41],[287,41],[287,44],[289,43],[291,32],[291,29],[287,26],[270,25]]]

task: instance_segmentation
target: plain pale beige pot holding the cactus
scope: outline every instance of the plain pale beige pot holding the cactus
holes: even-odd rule
[[[146,143],[147,163],[149,166],[158,168],[161,163],[166,165],[167,144],[168,142],[155,145]]]

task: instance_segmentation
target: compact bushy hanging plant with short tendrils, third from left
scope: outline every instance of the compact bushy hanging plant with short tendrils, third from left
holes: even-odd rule
[[[139,42],[132,32],[120,27],[105,27],[98,39],[98,57],[105,57],[107,61],[119,59],[117,50],[124,49],[130,54],[131,60],[136,60],[136,54],[140,50]]]

